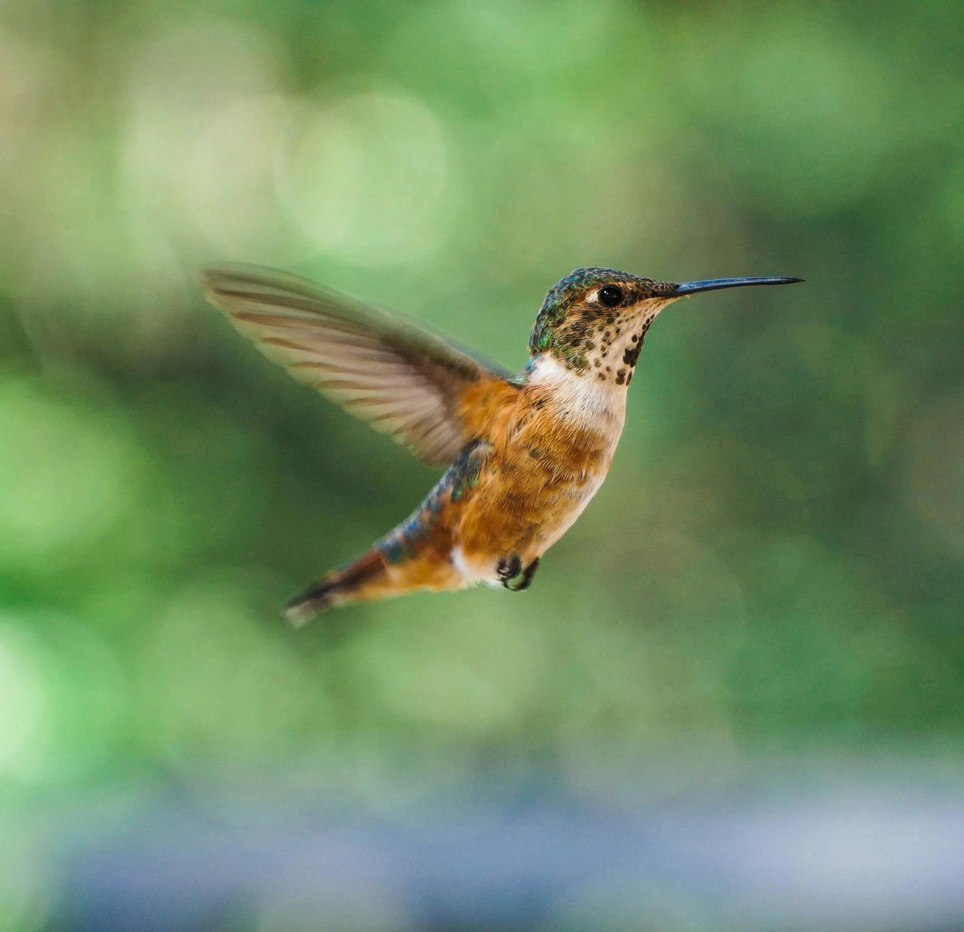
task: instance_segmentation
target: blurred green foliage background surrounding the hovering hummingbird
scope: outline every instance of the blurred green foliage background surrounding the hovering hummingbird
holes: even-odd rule
[[[956,749],[962,48],[940,0],[7,0],[0,929],[31,801]],[[222,259],[514,367],[579,266],[807,283],[660,318],[527,593],[296,633],[434,474],[203,303]]]

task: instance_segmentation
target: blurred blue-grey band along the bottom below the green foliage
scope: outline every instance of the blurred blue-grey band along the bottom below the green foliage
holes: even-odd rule
[[[270,785],[155,796],[122,827],[92,814],[58,833],[60,909],[98,932],[964,924],[959,771],[761,769],[704,773],[685,791],[665,772],[580,789],[490,775],[431,795],[396,787],[381,810],[313,794],[266,808]]]

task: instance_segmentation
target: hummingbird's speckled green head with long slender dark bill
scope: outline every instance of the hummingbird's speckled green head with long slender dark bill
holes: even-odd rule
[[[701,291],[786,285],[799,278],[715,278],[675,284],[614,269],[576,269],[556,282],[529,338],[534,357],[551,354],[576,375],[629,385],[653,319],[667,304]]]

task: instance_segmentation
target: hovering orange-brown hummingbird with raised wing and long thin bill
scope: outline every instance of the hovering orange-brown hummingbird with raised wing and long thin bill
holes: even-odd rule
[[[478,582],[521,592],[603,484],[647,331],[721,288],[577,269],[549,289],[517,374],[400,315],[259,266],[203,273],[207,298],[301,382],[444,473],[405,521],[292,599],[300,625],[351,603]]]

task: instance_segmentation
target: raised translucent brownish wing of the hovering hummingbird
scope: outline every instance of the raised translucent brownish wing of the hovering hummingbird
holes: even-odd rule
[[[297,275],[223,265],[204,272],[201,284],[267,356],[430,466],[447,466],[472,439],[457,413],[466,389],[512,378],[441,336]]]

